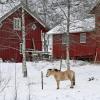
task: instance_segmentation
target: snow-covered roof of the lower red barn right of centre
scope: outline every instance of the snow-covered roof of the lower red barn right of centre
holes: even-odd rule
[[[75,20],[70,23],[70,33],[87,32],[95,29],[95,18],[87,18],[84,20]],[[67,32],[67,21],[64,20],[61,24],[47,32],[47,34],[63,34]]]

